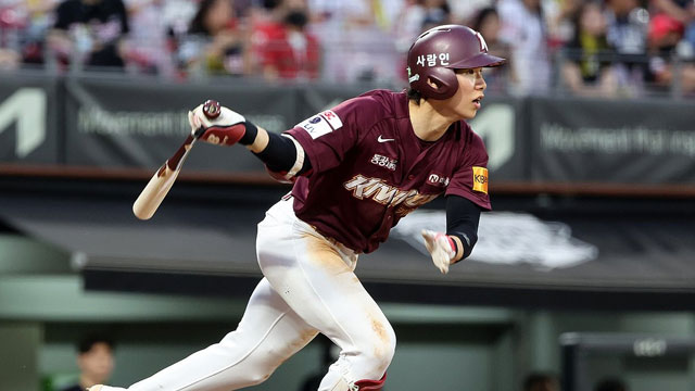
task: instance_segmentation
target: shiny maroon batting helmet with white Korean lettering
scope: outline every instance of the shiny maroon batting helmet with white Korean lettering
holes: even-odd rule
[[[488,54],[480,33],[459,25],[437,26],[420,34],[408,50],[408,81],[424,98],[448,99],[458,89],[454,70],[497,66],[505,61]]]

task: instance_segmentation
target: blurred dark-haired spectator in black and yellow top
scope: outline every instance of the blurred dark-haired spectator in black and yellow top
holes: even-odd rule
[[[574,37],[565,48],[563,80],[584,97],[611,97],[617,92],[612,49],[606,39],[606,20],[597,1],[586,1],[572,18]]]

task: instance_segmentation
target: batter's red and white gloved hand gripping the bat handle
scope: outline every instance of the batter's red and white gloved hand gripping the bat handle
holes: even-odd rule
[[[241,140],[247,131],[245,121],[243,115],[213,100],[188,112],[191,135],[216,146],[233,146]]]

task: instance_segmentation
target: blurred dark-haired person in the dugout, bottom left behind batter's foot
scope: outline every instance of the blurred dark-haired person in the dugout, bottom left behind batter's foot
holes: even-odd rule
[[[114,368],[113,341],[104,336],[89,336],[79,341],[77,367],[79,379],[62,391],[86,391],[109,380]]]

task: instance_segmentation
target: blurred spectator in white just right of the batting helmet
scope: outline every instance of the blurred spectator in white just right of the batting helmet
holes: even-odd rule
[[[546,93],[551,84],[547,27],[541,0],[501,0],[500,39],[511,47],[510,68],[516,76],[510,92]]]

